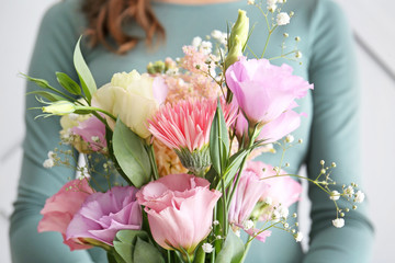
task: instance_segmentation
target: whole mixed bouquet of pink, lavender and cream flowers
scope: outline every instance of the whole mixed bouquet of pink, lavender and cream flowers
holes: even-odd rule
[[[269,41],[292,13],[268,2],[273,3],[266,12],[257,7]],[[272,24],[269,15],[275,15]],[[115,73],[101,89],[79,43],[74,60],[80,84],[61,72],[56,75],[63,90],[26,76],[43,88],[33,93],[46,104],[44,115],[63,116],[61,144],[71,144],[88,161],[77,168],[78,179],[47,199],[38,231],[59,231],[70,250],[101,247],[109,262],[122,263],[242,262],[251,241],[264,242],[272,227],[301,241],[297,224],[287,222],[296,214],[289,215],[287,207],[302,191],[292,176],[303,176],[287,174],[289,163],[252,159],[274,153],[273,144],[284,150],[294,145],[290,133],[301,123],[295,100],[313,84],[287,65],[271,65],[264,50],[247,59],[250,34],[240,10],[229,33],[213,32],[214,44],[196,37],[183,47],[184,57],[149,64],[143,75]],[[282,57],[289,55],[301,57],[298,50]],[[49,151],[44,167],[70,165],[72,156]],[[100,169],[91,164],[95,156],[105,158]],[[362,202],[356,184],[342,193],[330,190],[335,165],[321,161],[316,180],[304,179],[335,204],[340,197]],[[337,207],[335,227],[343,226],[346,211]]]

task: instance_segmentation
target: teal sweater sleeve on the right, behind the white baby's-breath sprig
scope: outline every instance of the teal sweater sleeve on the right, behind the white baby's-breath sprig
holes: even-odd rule
[[[314,117],[309,138],[307,171],[312,179],[319,174],[320,160],[336,162],[331,178],[336,190],[358,183],[361,178],[359,137],[359,94],[352,33],[341,10],[331,1],[317,0],[309,34],[312,58],[309,80]],[[373,229],[366,218],[366,199],[357,210],[346,213],[346,226],[331,226],[336,208],[318,187],[309,187],[312,229],[305,263],[370,262]],[[340,207],[350,207],[346,202]]]

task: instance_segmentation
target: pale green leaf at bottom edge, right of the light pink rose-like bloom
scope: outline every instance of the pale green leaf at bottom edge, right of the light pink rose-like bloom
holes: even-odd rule
[[[244,243],[230,229],[215,263],[239,263],[244,254]]]

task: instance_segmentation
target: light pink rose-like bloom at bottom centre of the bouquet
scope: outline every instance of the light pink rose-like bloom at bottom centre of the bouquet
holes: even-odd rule
[[[221,197],[218,191],[211,191],[208,186],[210,182],[202,178],[169,174],[137,193],[138,203],[148,215],[153,237],[160,247],[193,254],[208,236],[213,208]]]

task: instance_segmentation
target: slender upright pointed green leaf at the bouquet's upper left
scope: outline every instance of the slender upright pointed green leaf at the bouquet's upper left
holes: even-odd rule
[[[76,48],[75,48],[74,65],[77,70],[79,80],[81,82],[83,93],[90,103],[90,101],[92,99],[92,94],[98,90],[98,88],[94,82],[93,76],[88,68],[88,65],[83,59],[83,56],[82,56],[82,53],[80,49],[81,37],[82,36],[80,36],[80,38],[78,39]]]

